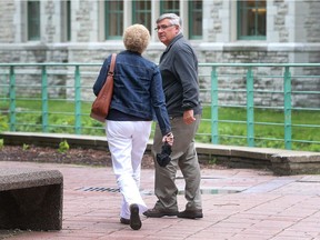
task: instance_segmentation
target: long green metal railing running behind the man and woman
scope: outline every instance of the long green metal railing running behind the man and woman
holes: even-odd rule
[[[104,134],[103,126],[89,118],[92,84],[100,67],[100,63],[0,63],[0,131],[36,129]],[[248,147],[268,147],[270,141],[281,141],[286,149],[299,142],[319,144],[320,151],[317,137],[320,120],[307,117],[306,122],[292,122],[292,111],[296,116],[308,111],[308,116],[320,119],[320,63],[200,63],[199,72],[204,112],[200,124],[204,130],[197,134],[200,141],[238,144],[234,141],[239,139],[242,141],[239,144]],[[54,101],[61,108],[53,109]],[[220,118],[226,109],[233,109],[234,117],[238,113],[246,117]],[[263,110],[270,114],[283,113],[283,121],[257,120]],[[33,122],[30,121],[32,114],[37,116]],[[59,118],[67,120],[59,122]],[[243,134],[228,133],[228,129],[242,124],[246,124]],[[221,130],[223,126],[228,126],[227,133]],[[257,133],[258,128],[268,127],[282,129],[282,137]],[[316,137],[292,138],[301,129],[312,129]],[[267,143],[261,146],[260,141]]]

